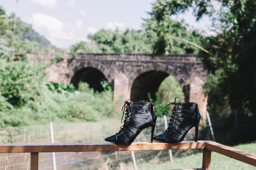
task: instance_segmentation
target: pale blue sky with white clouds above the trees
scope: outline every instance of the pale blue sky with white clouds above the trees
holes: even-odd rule
[[[0,6],[16,13],[23,22],[45,36],[52,45],[68,48],[79,41],[88,41],[88,34],[100,29],[120,31],[143,29],[143,18],[149,18],[156,0],[0,0]],[[195,21],[191,10],[173,17],[184,19],[196,29],[209,28],[209,18]]]

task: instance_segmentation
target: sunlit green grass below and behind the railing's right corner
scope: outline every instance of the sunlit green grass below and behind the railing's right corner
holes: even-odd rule
[[[236,146],[232,146],[244,152],[252,153],[256,155],[256,141],[252,143],[245,143]],[[136,154],[136,153],[135,153]],[[162,162],[159,158],[150,160],[149,162],[138,161],[138,169],[182,169],[182,168],[196,168],[202,167],[202,152],[195,153],[186,157],[173,157],[173,163]],[[168,155],[166,155],[168,157]],[[211,169],[256,169],[256,167],[240,162],[239,160],[231,159],[216,152],[212,152],[211,157]]]

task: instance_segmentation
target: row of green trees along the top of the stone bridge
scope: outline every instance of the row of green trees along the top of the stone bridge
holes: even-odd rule
[[[157,25],[156,20],[145,20],[145,29],[136,31],[127,29],[124,32],[100,30],[90,34],[90,43],[79,42],[70,47],[70,52],[76,53],[154,53],[168,55],[169,53],[198,53],[198,48],[184,41],[173,40],[170,35],[185,38],[200,44],[202,36],[196,30],[188,31],[185,24],[175,20],[167,20]],[[164,32],[163,32],[164,30]],[[163,49],[162,49],[163,47]]]

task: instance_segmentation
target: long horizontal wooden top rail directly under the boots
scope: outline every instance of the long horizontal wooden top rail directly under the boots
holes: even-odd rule
[[[106,152],[131,150],[186,150],[202,149],[204,141],[182,141],[180,143],[141,143],[116,145],[114,143],[44,143],[44,144],[1,144],[0,153],[31,152]]]

